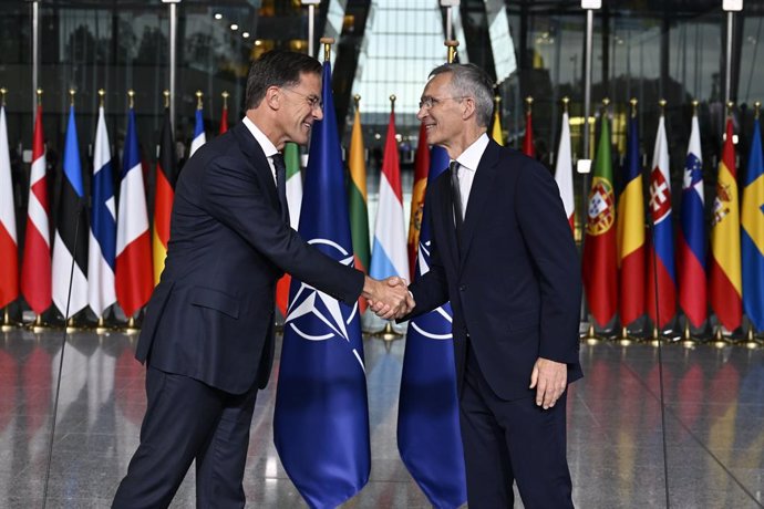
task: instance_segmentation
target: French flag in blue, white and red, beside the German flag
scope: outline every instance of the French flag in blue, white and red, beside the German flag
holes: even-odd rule
[[[157,172],[157,177],[161,173]],[[148,302],[153,290],[146,195],[143,186],[138,136],[135,132],[135,112],[131,105],[122,156],[116,226],[116,299],[125,316],[133,316],[143,308]]]

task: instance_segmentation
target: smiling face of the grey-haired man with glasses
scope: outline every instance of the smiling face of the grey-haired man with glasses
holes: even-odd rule
[[[433,76],[422,93],[422,106],[416,113],[425,127],[427,143],[446,148],[454,145],[464,129],[466,97],[457,97],[451,87],[451,73]]]

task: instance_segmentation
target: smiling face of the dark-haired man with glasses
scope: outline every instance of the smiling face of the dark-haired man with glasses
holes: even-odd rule
[[[310,139],[313,122],[323,118],[320,106],[321,75],[314,73],[300,74],[296,85],[279,89],[279,127],[281,131],[280,147],[286,142],[306,145]]]

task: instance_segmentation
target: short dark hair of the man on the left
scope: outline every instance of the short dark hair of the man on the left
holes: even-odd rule
[[[304,53],[275,50],[262,54],[249,66],[246,110],[260,105],[269,86],[297,85],[300,74],[321,75],[321,63]]]

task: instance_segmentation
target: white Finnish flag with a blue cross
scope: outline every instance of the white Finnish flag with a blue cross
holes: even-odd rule
[[[114,263],[116,258],[116,204],[112,150],[103,106],[93,147],[91,229],[87,251],[87,303],[96,316],[116,302]]]

